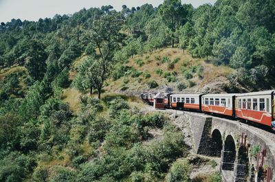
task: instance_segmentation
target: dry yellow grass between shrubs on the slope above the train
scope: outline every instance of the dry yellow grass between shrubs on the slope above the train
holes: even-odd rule
[[[159,56],[161,60],[156,60],[156,57]],[[179,58],[179,61],[175,64],[173,69],[168,69],[168,62],[162,63],[162,58],[167,56],[171,62],[176,58]],[[141,59],[144,62],[144,65],[139,66],[136,63],[137,59]],[[201,65],[203,66],[203,78],[198,78],[195,74],[195,78],[190,79],[192,82],[195,82],[195,87],[188,88],[186,91],[197,91],[199,88],[202,88],[205,84],[213,82],[218,77],[225,77],[228,76],[234,69],[225,66],[215,66],[210,63],[207,63],[202,58],[192,58],[188,54],[188,52],[183,52],[181,49],[177,48],[166,48],[166,49],[159,49],[156,52],[151,54],[144,54],[143,56],[135,55],[133,58],[129,59],[129,62],[126,64],[129,67],[133,67],[138,71],[148,72],[151,75],[151,78],[144,78],[143,75],[140,75],[138,78],[131,78],[131,76],[124,76],[118,80],[109,80],[109,86],[106,88],[108,91],[115,91],[120,92],[120,89],[123,86],[129,87],[126,90],[126,93],[140,93],[143,91],[154,91],[150,90],[147,86],[148,80],[156,80],[159,84],[159,87],[155,89],[155,91],[163,91],[164,88],[170,87],[173,88],[174,91],[177,91],[177,83],[184,82],[188,85],[188,80],[184,78],[181,69],[181,65],[186,65],[186,68]],[[177,73],[177,82],[168,82],[166,78],[163,76],[159,76],[155,73],[156,69],[162,69],[163,72],[173,72]],[[125,80],[128,83],[125,84]]]

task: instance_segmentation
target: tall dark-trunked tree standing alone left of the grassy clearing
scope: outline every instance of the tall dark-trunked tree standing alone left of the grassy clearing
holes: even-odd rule
[[[118,48],[119,31],[122,22],[122,14],[111,11],[109,14],[100,16],[100,19],[93,21],[89,25],[89,37],[96,44],[96,49],[99,52],[96,60],[94,60],[96,69],[89,69],[91,75],[98,77],[95,79],[95,87],[98,90],[99,99],[104,81],[108,78],[113,66],[113,54],[115,49]]]

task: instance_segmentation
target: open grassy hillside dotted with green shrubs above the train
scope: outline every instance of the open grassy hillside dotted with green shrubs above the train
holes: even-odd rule
[[[151,54],[133,56],[126,63],[129,73],[118,80],[109,80],[108,91],[142,93],[163,91],[174,92],[223,92],[220,86],[228,84],[226,76],[234,69],[215,66],[203,58],[192,58],[177,48],[158,49]],[[158,86],[150,88],[148,82],[155,80]],[[182,87],[180,87],[182,85]]]

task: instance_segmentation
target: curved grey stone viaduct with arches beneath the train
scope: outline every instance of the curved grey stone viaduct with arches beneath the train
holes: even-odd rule
[[[250,181],[253,174],[275,181],[275,143],[270,139],[275,134],[201,113],[184,111],[183,117],[190,123],[195,152],[221,157],[223,181]]]

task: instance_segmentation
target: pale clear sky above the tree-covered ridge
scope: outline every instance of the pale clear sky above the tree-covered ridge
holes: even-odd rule
[[[164,0],[0,0],[0,22],[11,19],[21,21],[38,21],[39,18],[52,18],[55,14],[74,14],[79,10],[102,5],[113,5],[115,10],[121,10],[122,5],[137,7],[144,3],[157,7]],[[216,0],[181,0],[181,3],[191,3],[195,8],[204,3],[214,4]]]

